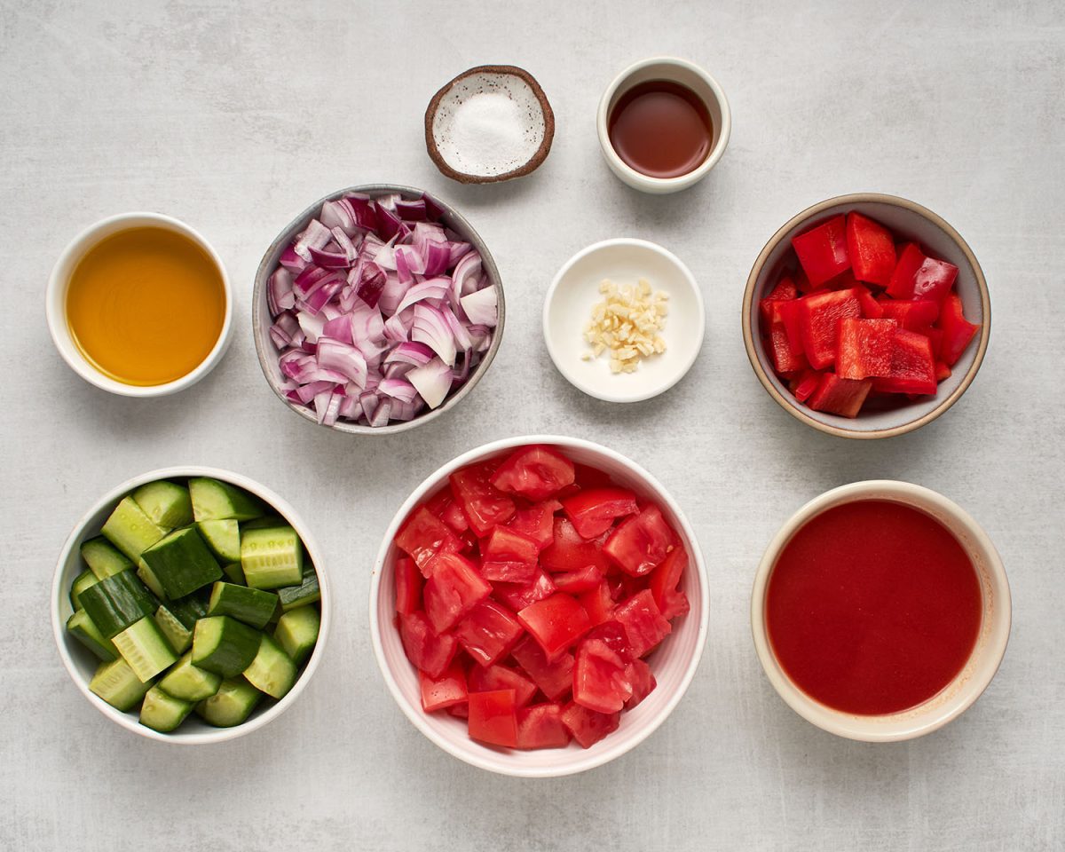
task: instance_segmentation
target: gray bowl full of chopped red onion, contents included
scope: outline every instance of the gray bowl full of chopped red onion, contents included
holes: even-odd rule
[[[256,273],[263,375],[289,408],[356,435],[410,429],[454,408],[503,339],[503,285],[458,212],[410,186],[315,201]]]

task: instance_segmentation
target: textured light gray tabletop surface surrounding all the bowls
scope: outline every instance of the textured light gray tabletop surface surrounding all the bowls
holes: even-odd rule
[[[718,77],[735,129],[703,184],[652,198],[607,171],[593,119],[611,77],[660,52]],[[532,177],[465,189],[426,157],[422,113],[447,79],[489,62],[536,75],[558,131]],[[1065,13],[1051,2],[0,0],[0,847],[1062,849],[1063,89]],[[274,234],[312,199],[373,181],[456,203],[492,247],[509,308],[499,357],[460,410],[386,440],[285,412],[259,373],[248,320]],[[951,222],[983,264],[995,320],[980,376],[945,417],[849,443],[770,400],[738,311],[779,225],[862,190]],[[81,381],[44,322],[45,281],[66,242],[140,209],[201,229],[237,299],[222,365],[158,402]],[[556,268],[619,235],[678,253],[707,304],[687,379],[626,408],[570,388],[540,335]],[[410,489],[461,450],[534,430],[645,464],[688,511],[712,581],[706,654],[670,720],[616,763],[548,782],[492,776],[429,743],[386,692],[366,627],[371,562]],[[48,623],[54,560],[87,505],[182,462],[284,494],[324,546],[338,616],[288,715],[187,750],[93,710]],[[969,509],[1014,592],[995,682],[961,720],[908,744],[808,725],[772,691],[749,638],[750,584],[771,534],[809,497],[868,477],[920,482]]]

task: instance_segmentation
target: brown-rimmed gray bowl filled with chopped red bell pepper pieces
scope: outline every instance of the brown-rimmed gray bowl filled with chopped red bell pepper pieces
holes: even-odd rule
[[[889,438],[949,409],[990,337],[987,283],[940,216],[905,198],[830,198],[789,219],[748,278],[743,342],[797,420]]]

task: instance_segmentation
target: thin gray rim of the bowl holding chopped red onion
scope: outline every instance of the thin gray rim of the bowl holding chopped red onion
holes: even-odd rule
[[[347,193],[362,193],[363,195],[368,195],[372,198],[377,198],[381,195],[391,195],[393,193],[398,193],[405,198],[421,198],[422,196],[428,196],[432,199],[437,207],[439,207],[447,216],[452,217],[455,223],[461,227],[462,237],[480,255],[481,266],[487,272],[489,279],[496,289],[496,325],[492,332],[492,343],[489,345],[488,351],[485,353],[485,357],[473,370],[461,388],[459,388],[455,393],[448,395],[448,397],[444,399],[438,408],[431,408],[423,411],[421,414],[415,415],[413,420],[389,423],[384,426],[363,426],[359,423],[349,423],[347,421],[338,420],[331,426],[326,426],[324,423],[318,423],[317,419],[309,409],[302,406],[297,407],[290,402],[280,389],[274,384],[274,380],[271,378],[269,370],[267,368],[267,359],[273,359],[275,362],[277,361],[277,350],[273,347],[273,345],[266,345],[266,340],[269,337],[269,327],[263,327],[259,314],[259,305],[266,298],[266,281],[276,268],[276,265],[269,264],[271,257],[275,253],[275,251],[277,251],[279,246],[288,243],[293,235],[306,228],[307,223],[310,222],[311,218],[317,217],[318,212],[322,210],[322,204],[326,201],[333,201]],[[456,230],[457,232],[458,229],[453,228],[452,230]],[[267,314],[268,313],[269,311],[267,310]],[[302,213],[292,219],[292,222],[290,222],[284,228],[282,228],[277,236],[275,236],[271,242],[262,257],[262,260],[259,261],[259,266],[256,269],[255,286],[251,291],[251,338],[256,345],[256,357],[259,360],[259,368],[262,371],[263,377],[266,379],[267,387],[274,392],[274,395],[284,404],[286,409],[302,420],[308,421],[315,426],[322,426],[326,429],[333,429],[334,431],[346,432],[348,435],[395,435],[397,432],[407,431],[408,429],[413,429],[416,426],[422,426],[429,421],[436,420],[445,411],[450,411],[455,408],[455,406],[457,406],[466,397],[466,395],[470,394],[471,391],[473,391],[477,382],[479,382],[485,373],[488,372],[488,367],[491,365],[492,361],[495,360],[495,355],[499,350],[499,346],[503,343],[503,327],[506,322],[506,314],[507,306],[503,289],[503,278],[499,275],[499,268],[496,266],[495,259],[488,250],[488,246],[485,244],[480,234],[474,230],[473,226],[469,223],[465,216],[459,213],[450,203],[441,199],[436,193],[430,193],[427,190],[420,190],[416,186],[407,186],[400,183],[365,183],[358,186],[346,186],[342,190],[329,193],[312,203],[304,210]]]

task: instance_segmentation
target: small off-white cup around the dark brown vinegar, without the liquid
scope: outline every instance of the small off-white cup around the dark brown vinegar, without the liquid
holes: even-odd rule
[[[610,111],[613,105],[633,86],[650,80],[669,80],[679,83],[694,92],[709,110],[710,122],[714,126],[714,142],[710,145],[710,151],[706,159],[687,175],[681,175],[676,178],[653,178],[650,175],[644,175],[618,157],[618,152],[610,144],[607,122],[610,119]],[[728,109],[728,99],[725,97],[724,89],[721,88],[717,80],[698,65],[675,56],[652,56],[629,65],[613,78],[600,100],[595,127],[599,131],[603,157],[606,158],[607,165],[610,166],[610,170],[615,175],[634,190],[653,195],[665,195],[693,186],[718,164],[728,145],[728,136],[732,134],[732,112]]]

